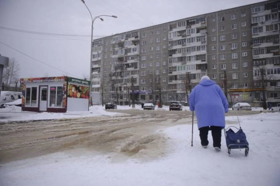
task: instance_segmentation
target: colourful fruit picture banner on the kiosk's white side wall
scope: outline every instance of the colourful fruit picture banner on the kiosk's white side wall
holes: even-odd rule
[[[68,84],[68,97],[89,99],[89,87]]]

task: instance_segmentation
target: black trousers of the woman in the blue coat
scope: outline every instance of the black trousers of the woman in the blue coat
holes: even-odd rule
[[[212,138],[213,138],[213,147],[221,148],[221,137],[222,137],[222,127],[210,126]],[[208,141],[208,131],[209,127],[199,128],[199,136],[202,146],[207,146]]]

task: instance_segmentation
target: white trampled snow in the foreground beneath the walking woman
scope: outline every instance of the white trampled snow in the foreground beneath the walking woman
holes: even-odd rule
[[[279,113],[240,116],[239,120],[249,142],[248,157],[244,149],[232,150],[229,157],[223,133],[220,152],[211,146],[211,132],[209,148],[203,149],[196,124],[191,147],[190,121],[180,120],[174,127],[154,131],[169,136],[167,156],[157,160],[137,159],[148,156],[144,149],[138,156],[120,161],[114,161],[110,154],[83,149],[59,152],[1,164],[0,185],[279,186]],[[238,127],[236,116],[228,116],[226,121],[227,126]]]

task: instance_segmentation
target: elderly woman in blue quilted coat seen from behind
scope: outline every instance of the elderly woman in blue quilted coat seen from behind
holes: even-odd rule
[[[225,113],[228,112],[228,101],[219,85],[202,76],[200,83],[192,89],[189,96],[190,111],[195,111],[197,127],[203,148],[207,148],[208,131],[211,129],[213,147],[221,148],[222,129],[225,127]]]

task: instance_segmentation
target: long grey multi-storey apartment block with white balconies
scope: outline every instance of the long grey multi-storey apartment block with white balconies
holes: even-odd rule
[[[264,1],[96,39],[92,91],[100,103],[186,101],[208,75],[230,102],[258,106],[260,82],[280,102],[279,9]]]

